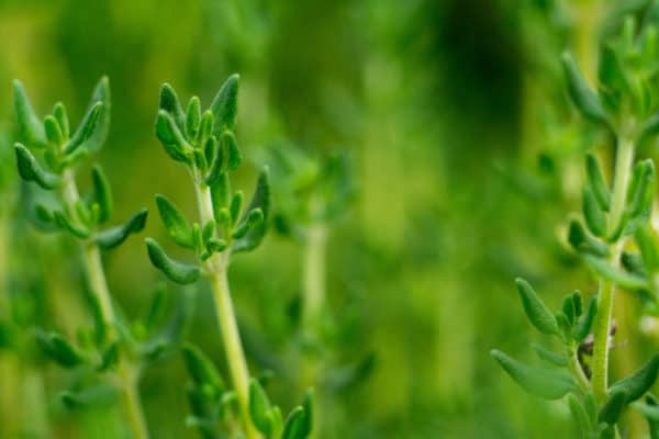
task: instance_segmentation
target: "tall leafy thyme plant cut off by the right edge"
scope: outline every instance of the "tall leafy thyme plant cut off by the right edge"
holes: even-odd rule
[[[523,364],[493,350],[492,356],[525,390],[548,399],[568,395],[583,438],[617,438],[621,415],[634,406],[659,438],[659,406],[648,393],[659,371],[659,354],[636,372],[613,383],[608,378],[614,299],[618,290],[638,295],[656,313],[659,240],[650,225],[655,166],[637,157],[659,131],[659,44],[657,8],[643,26],[628,18],[621,35],[601,52],[596,91],[569,53],[562,56],[569,94],[591,124],[615,138],[613,180],[606,182],[594,153],[585,157],[582,218],[569,225],[568,240],[597,279],[597,292],[584,304],[579,291],[550,311],[532,285],[517,279],[526,315],[540,333],[555,337],[561,352],[534,345],[550,368]],[[645,401],[641,398],[646,396]]]

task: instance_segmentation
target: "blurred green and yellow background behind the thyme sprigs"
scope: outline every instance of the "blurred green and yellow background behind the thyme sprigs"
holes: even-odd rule
[[[13,297],[29,320],[67,334],[88,319],[76,247],[25,219],[30,188],[18,182],[10,147],[13,78],[40,114],[63,100],[76,123],[96,81],[109,76],[112,125],[97,160],[123,218],[142,206],[155,212],[154,193],[193,214],[189,179],[154,135],[158,90],[167,81],[183,101],[194,93],[208,105],[237,71],[247,159],[237,179],[248,191],[273,145],[350,156],[356,195],[328,225],[334,335],[320,437],[576,437],[565,404],[524,393],[489,351],[534,361],[529,344],[540,337],[514,277],[533,281],[552,306],[571,289],[594,292],[563,243],[579,210],[582,151],[603,140],[570,108],[559,54],[574,50],[593,79],[600,38],[622,12],[647,3],[0,0],[0,160],[9,164],[0,175],[0,282],[23,292],[0,306],[7,313]],[[165,238],[156,215],[146,235]],[[300,243],[272,233],[231,272],[252,370],[275,372],[272,398],[284,410],[303,392],[289,361],[303,259]],[[125,314],[143,313],[163,278],[142,239],[105,262]],[[194,290],[188,338],[224,369],[210,292]],[[618,305],[614,374],[657,349],[635,324],[635,302],[621,295]],[[66,373],[2,356],[13,367],[0,374],[0,437],[122,437],[114,404],[66,410],[57,398]],[[180,356],[146,371],[141,391],[154,438],[197,437],[185,421],[187,380]],[[637,421],[628,419],[630,431]]]

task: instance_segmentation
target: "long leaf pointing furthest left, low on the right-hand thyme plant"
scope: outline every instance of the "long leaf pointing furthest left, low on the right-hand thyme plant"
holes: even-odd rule
[[[490,352],[509,375],[524,390],[546,399],[558,399],[579,385],[566,371],[539,369],[523,364],[499,350]]]

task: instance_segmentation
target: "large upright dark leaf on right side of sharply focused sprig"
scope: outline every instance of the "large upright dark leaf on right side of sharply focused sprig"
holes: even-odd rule
[[[257,217],[258,214],[253,214],[252,212],[256,210],[260,210],[263,213],[263,221]],[[268,215],[270,212],[270,178],[268,168],[265,167],[256,183],[256,190],[254,191],[254,195],[252,196],[252,202],[249,206],[245,211],[243,218],[241,219],[241,224],[248,224],[248,230],[246,234],[239,238],[236,238],[232,245],[232,251],[250,251],[259,246],[264,236],[266,235],[267,224],[268,224]],[[249,219],[250,218],[250,219]],[[247,221],[249,219],[249,221]],[[219,219],[217,219],[219,221]],[[219,221],[220,222],[220,221]],[[241,226],[238,226],[239,228]]]

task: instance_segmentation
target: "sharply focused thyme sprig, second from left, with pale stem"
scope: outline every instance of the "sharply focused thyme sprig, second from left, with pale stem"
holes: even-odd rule
[[[191,345],[183,348],[192,378],[188,387],[191,423],[199,427],[202,437],[219,437],[219,430],[223,429],[248,439],[303,439],[311,431],[311,396],[293,408],[283,423],[279,407],[270,404],[261,383],[250,378],[230,292],[231,258],[260,245],[270,213],[267,168],[261,169],[246,207],[243,192],[231,188],[230,172],[242,161],[233,132],[237,100],[237,75],[224,82],[203,113],[198,97],[192,97],[183,111],[171,86],[166,83],[160,89],[156,136],[165,151],[188,169],[199,221],[190,224],[164,195],[156,195],[156,204],[172,240],[192,250],[197,262],[171,259],[153,238],[146,239],[146,246],[152,263],[171,281],[189,284],[204,275],[211,284],[233,391],[227,392],[213,363],[198,348]],[[233,399],[238,406],[237,426],[231,410]]]

